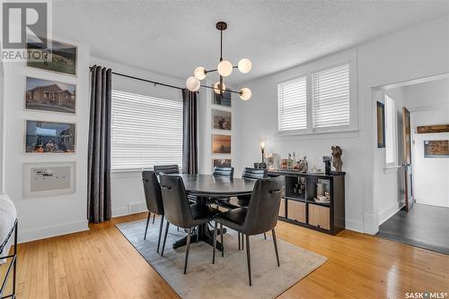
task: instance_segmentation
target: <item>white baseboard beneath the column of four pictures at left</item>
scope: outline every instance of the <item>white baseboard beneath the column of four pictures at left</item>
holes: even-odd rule
[[[19,222],[18,243],[25,243],[40,239],[46,239],[57,235],[67,235],[82,232],[89,229],[88,224],[89,222],[87,221],[87,219],[85,219],[70,223],[64,223],[57,226],[44,226],[37,229],[20,231],[20,222]]]

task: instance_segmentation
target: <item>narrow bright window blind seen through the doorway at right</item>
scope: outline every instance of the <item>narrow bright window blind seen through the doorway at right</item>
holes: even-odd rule
[[[396,105],[385,95],[385,163],[396,163]]]

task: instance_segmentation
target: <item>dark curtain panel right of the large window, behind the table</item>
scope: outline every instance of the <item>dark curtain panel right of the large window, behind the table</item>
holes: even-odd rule
[[[182,90],[182,172],[198,173],[197,93]]]

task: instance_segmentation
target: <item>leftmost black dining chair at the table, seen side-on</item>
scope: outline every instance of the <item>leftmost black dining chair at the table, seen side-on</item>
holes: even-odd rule
[[[153,221],[154,215],[161,215],[161,226],[159,227],[159,237],[157,240],[156,250],[156,252],[159,252],[161,235],[163,232],[163,197],[161,194],[161,186],[159,185],[156,174],[152,170],[142,170],[142,182],[144,183],[146,209],[148,209],[144,240],[146,239],[146,232],[148,231],[151,213],[153,213]]]

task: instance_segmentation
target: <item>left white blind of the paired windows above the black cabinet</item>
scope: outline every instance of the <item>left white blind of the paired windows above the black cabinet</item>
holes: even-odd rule
[[[306,77],[277,84],[277,126],[279,131],[307,128]]]

